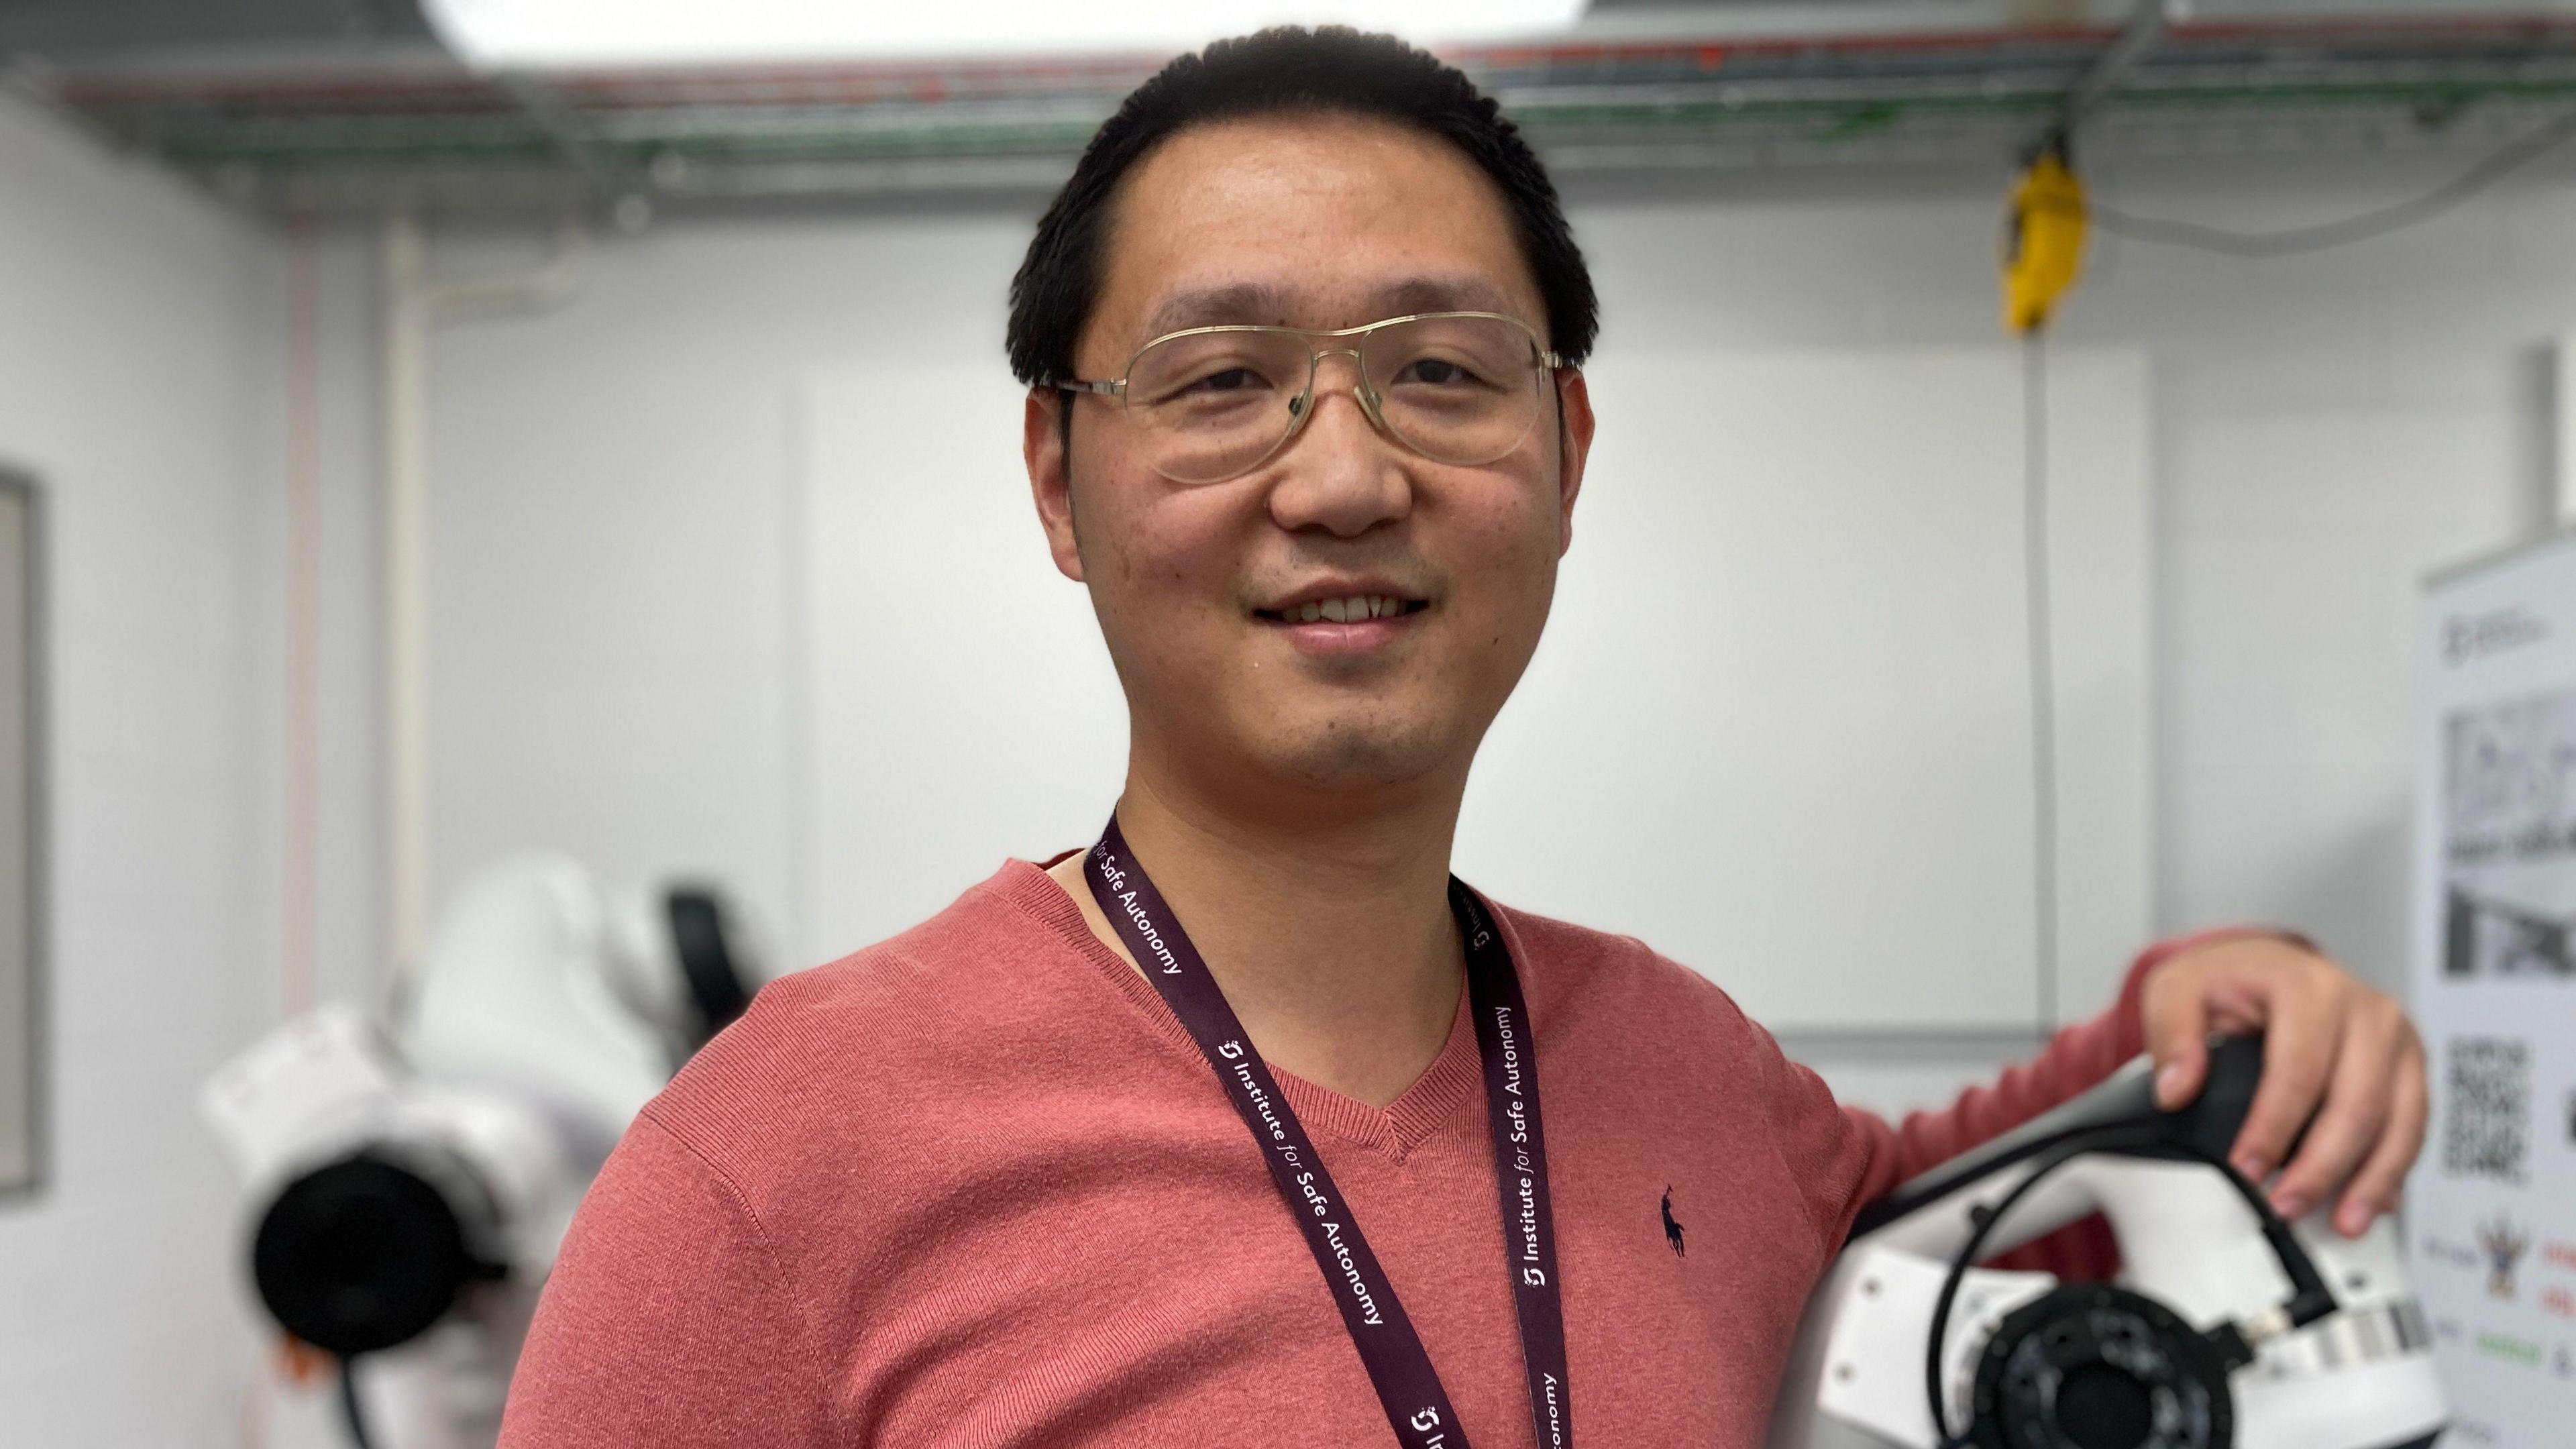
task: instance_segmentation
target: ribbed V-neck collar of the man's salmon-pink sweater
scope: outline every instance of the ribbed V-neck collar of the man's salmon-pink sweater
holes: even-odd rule
[[[1046,874],[1043,866],[1030,861],[1010,861],[1002,866],[1002,892],[1033,915],[1041,926],[1051,928],[1077,957],[1090,962],[1110,987],[1118,990],[1133,1006],[1146,1024],[1180,1047],[1193,1065],[1203,1065],[1198,1055],[1198,1042],[1190,1039],[1190,1029],[1172,1016],[1172,1008],[1154,990],[1154,982],[1136,975],[1136,967],[1113,951],[1100,936],[1092,936],[1090,923],[1082,918],[1082,908],[1074,897],[1056,884],[1056,877]],[[1461,1106],[1466,1106],[1481,1091],[1481,1062],[1476,1057],[1476,1024],[1468,1011],[1466,982],[1458,985],[1458,1013],[1450,1018],[1448,1042],[1440,1044],[1440,1055],[1432,1065],[1422,1070],[1409,1088],[1404,1088],[1396,1101],[1386,1106],[1368,1106],[1355,1096],[1342,1096],[1327,1085],[1316,1085],[1280,1065],[1270,1062],[1270,1075],[1278,1078],[1280,1093],[1288,1098],[1291,1111],[1306,1124],[1306,1132],[1332,1134],[1340,1142],[1381,1152],[1394,1160],[1409,1158],[1422,1142],[1427,1142]]]

